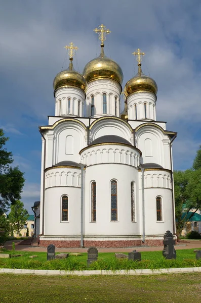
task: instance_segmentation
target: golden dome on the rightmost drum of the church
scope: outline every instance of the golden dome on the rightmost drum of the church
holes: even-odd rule
[[[139,90],[150,91],[155,94],[157,93],[158,90],[155,81],[152,78],[143,74],[141,69],[141,63],[138,64],[137,75],[132,79],[130,79],[125,85],[124,93],[126,97],[128,97],[128,95],[130,95],[131,93]]]

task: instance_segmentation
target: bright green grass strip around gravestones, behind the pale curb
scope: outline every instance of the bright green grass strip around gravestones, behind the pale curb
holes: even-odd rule
[[[120,269],[160,269],[160,268],[179,268],[179,267],[201,267],[201,260],[195,260],[194,249],[177,250],[176,260],[166,260],[162,251],[141,252],[142,261],[133,262],[128,259],[116,259],[113,252],[100,252],[97,262],[87,267],[87,253],[82,256],[69,256],[63,260],[47,261],[46,252],[25,252],[15,251],[22,257],[11,259],[0,259],[0,268],[19,268],[19,269],[45,269],[45,270],[113,270]],[[6,251],[11,253],[12,251]],[[30,259],[29,256],[37,255],[37,258]]]

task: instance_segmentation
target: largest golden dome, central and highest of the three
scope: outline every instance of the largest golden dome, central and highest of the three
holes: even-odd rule
[[[83,75],[87,82],[101,79],[109,78],[122,84],[123,72],[120,66],[105,56],[103,51],[104,44],[101,44],[101,54],[99,57],[91,60],[84,68]]]

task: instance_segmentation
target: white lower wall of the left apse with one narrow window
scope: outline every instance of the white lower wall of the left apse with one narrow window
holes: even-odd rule
[[[68,196],[68,222],[61,221],[61,197]],[[52,187],[45,191],[45,236],[80,236],[81,188]]]

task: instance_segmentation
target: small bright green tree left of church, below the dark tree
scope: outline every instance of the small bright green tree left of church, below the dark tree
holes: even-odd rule
[[[12,225],[12,229],[20,234],[20,230],[24,228],[29,217],[28,211],[24,209],[24,204],[17,200],[14,205],[11,205],[11,212],[9,214],[9,221]]]

